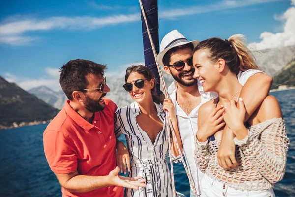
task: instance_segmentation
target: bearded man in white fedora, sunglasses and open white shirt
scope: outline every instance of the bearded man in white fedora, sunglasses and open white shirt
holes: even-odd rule
[[[192,178],[192,184],[200,195],[200,181],[203,173],[197,168],[194,161],[195,138],[198,131],[197,122],[199,108],[205,102],[217,97],[216,93],[204,92],[202,85],[193,78],[194,67],[192,64],[192,52],[199,43],[198,40],[188,41],[177,30],[166,34],[160,44],[160,53],[157,62],[164,66],[167,74],[171,74],[174,82],[169,86],[168,93],[175,105],[178,127],[183,144],[182,153],[186,158],[188,172]],[[259,70],[247,70],[237,75],[239,82],[244,85],[240,97],[244,99],[247,110],[245,121],[263,99],[268,95],[272,78]],[[258,93],[259,94],[256,94]],[[253,97],[255,95],[255,97]],[[235,168],[235,144],[232,131],[226,129],[221,136],[221,144],[218,150],[219,164],[225,168]],[[178,156],[179,153],[174,153]],[[175,162],[179,162],[177,160]],[[194,191],[191,185],[191,197]]]

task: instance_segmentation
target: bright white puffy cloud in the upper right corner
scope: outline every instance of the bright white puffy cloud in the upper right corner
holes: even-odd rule
[[[292,0],[295,5],[295,0]],[[250,43],[249,47],[255,50],[266,48],[277,48],[295,45],[295,7],[292,6],[281,16],[275,16],[276,20],[284,21],[283,32],[271,33],[263,32],[260,34],[260,42]]]

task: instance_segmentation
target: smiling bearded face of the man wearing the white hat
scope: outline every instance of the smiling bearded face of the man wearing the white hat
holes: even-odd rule
[[[165,72],[171,74],[174,80],[183,86],[193,86],[196,84],[196,79],[193,78],[195,68],[187,64],[187,60],[192,57],[192,52],[190,48],[185,48],[171,54],[169,65],[175,65],[183,61],[185,62],[183,70],[177,71],[174,66],[164,66]]]

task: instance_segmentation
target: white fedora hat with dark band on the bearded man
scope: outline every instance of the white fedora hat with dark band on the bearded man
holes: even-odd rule
[[[172,30],[171,32],[167,33],[160,44],[160,53],[157,55],[157,63],[160,66],[164,66],[163,57],[169,49],[172,49],[176,46],[181,46],[184,44],[192,43],[194,47],[197,46],[199,43],[198,40],[188,41],[181,33],[177,30]]]

